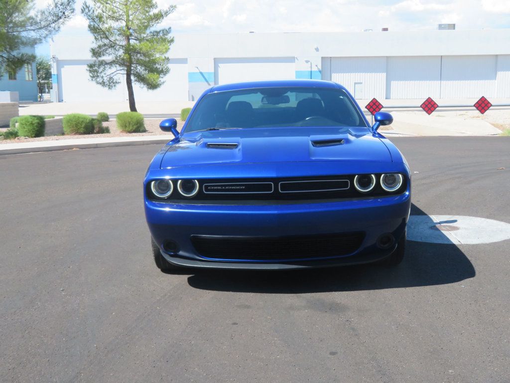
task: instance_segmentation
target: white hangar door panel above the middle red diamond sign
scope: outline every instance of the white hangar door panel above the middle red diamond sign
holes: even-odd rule
[[[439,98],[441,56],[388,57],[387,99]]]

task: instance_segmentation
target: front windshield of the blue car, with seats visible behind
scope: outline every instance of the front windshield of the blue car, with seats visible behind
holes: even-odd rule
[[[367,128],[342,89],[275,87],[207,94],[186,132],[289,126]]]

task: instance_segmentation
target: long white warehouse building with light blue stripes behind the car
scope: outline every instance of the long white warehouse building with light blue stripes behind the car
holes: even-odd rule
[[[510,29],[473,31],[174,35],[170,74],[137,101],[194,101],[215,84],[323,79],[356,99],[510,98]],[[50,45],[54,101],[123,101],[89,80],[90,36]]]

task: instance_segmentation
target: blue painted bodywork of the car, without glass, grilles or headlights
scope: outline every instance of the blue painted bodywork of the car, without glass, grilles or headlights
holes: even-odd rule
[[[214,86],[208,93],[271,86],[309,86],[344,89],[325,81],[288,80]],[[349,94],[347,92],[347,94]],[[349,94],[352,99],[352,96]],[[352,99],[352,101],[354,101]],[[354,105],[360,110],[357,103]],[[363,113],[362,113],[363,115]],[[164,241],[179,244],[178,254],[163,256],[176,265],[238,269],[289,269],[335,266],[374,261],[391,254],[396,245],[382,251],[375,246],[382,233],[398,240],[405,232],[411,208],[411,173],[404,157],[391,141],[367,128],[297,127],[249,128],[181,134],[162,148],[150,163],[144,181],[145,215],[150,233],[163,249]],[[311,140],[341,137],[342,146],[314,148]],[[233,150],[208,150],[208,142],[235,142]],[[285,145],[283,145],[285,143]],[[157,179],[235,179],[401,173],[404,193],[340,201],[299,203],[188,204],[157,202],[148,198],[147,184]],[[358,251],[338,257],[313,259],[243,260],[208,259],[191,244],[191,235],[286,236],[364,231]]]

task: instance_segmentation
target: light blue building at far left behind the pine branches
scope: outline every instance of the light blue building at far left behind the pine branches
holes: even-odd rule
[[[24,52],[35,54],[35,48],[24,49]],[[19,101],[37,101],[37,76],[35,62],[27,63],[16,73],[4,71],[0,77],[0,90],[19,93]]]

